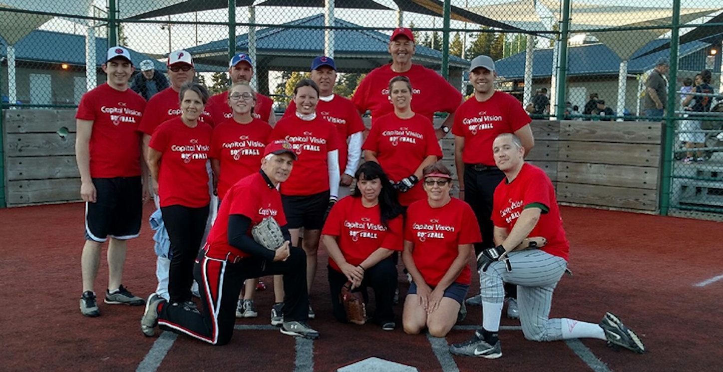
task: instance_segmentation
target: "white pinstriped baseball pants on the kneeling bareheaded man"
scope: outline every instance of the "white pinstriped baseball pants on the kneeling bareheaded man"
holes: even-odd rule
[[[517,305],[525,338],[534,341],[562,339],[562,323],[560,319],[549,319],[549,309],[552,292],[568,262],[539,249],[511,252],[509,259],[510,272],[501,261],[492,262],[487,272],[479,272],[482,301],[502,303],[505,300],[504,283],[517,285]]]

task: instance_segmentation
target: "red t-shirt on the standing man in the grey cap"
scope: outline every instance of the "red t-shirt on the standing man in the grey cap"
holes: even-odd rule
[[[497,135],[515,133],[530,121],[517,98],[505,92],[495,92],[484,102],[472,97],[460,105],[454,113],[452,134],[464,137],[464,163],[495,165],[492,142]]]

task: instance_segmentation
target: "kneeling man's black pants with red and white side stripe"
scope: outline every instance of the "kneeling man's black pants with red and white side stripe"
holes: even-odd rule
[[[286,261],[270,261],[258,257],[238,259],[235,256],[209,257],[200,251],[194,265],[194,277],[201,292],[200,312],[183,304],[163,303],[158,313],[161,329],[187,334],[213,345],[231,340],[236,324],[236,301],[244,280],[265,275],[283,274],[284,321],[309,319],[307,293],[307,255],[291,247]]]

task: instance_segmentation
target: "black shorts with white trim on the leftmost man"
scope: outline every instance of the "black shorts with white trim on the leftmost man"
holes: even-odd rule
[[[143,214],[140,176],[93,178],[95,203],[85,203],[85,239],[137,238]]]

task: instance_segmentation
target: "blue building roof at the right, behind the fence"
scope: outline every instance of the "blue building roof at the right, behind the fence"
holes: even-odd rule
[[[641,74],[655,66],[660,57],[669,57],[670,51],[658,51],[636,58],[647,51],[669,42],[669,39],[656,39],[636,51],[628,61],[628,73]],[[709,43],[691,41],[680,46],[680,58],[710,46]],[[522,79],[525,75],[526,52],[509,56],[495,62],[497,74],[505,79]],[[543,78],[552,74],[552,48],[539,49],[532,54],[532,77]],[[568,48],[568,76],[615,75],[620,73],[620,57],[602,43]]]

